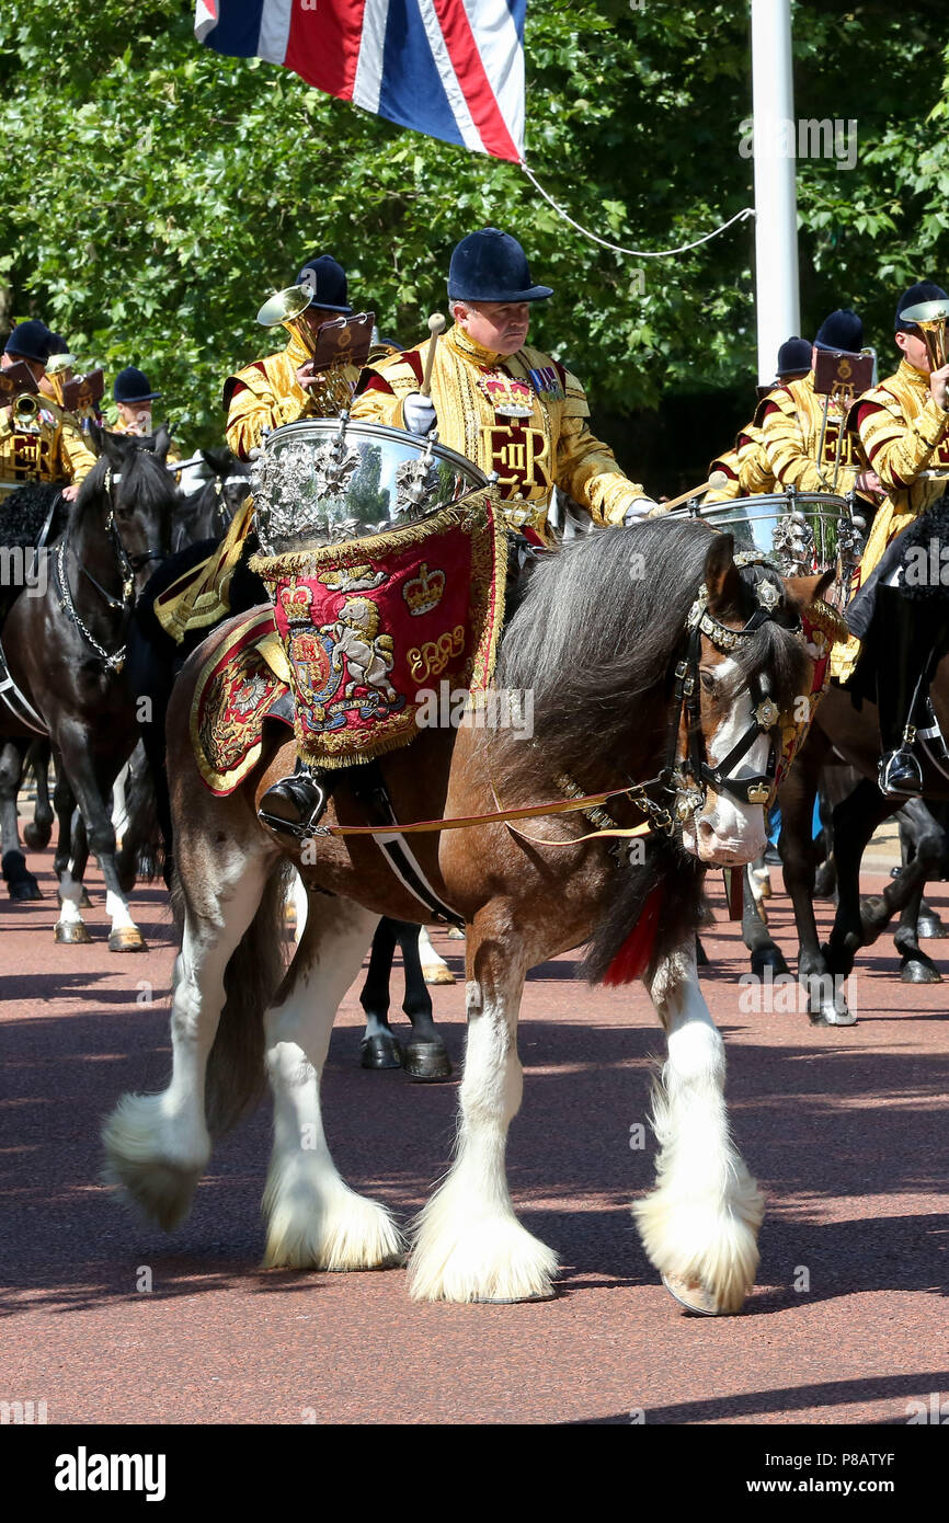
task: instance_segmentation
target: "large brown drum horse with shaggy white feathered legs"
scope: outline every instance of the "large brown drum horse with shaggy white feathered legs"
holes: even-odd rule
[[[699,522],[591,535],[536,571],[504,634],[495,681],[533,690],[533,742],[510,730],[425,730],[379,762],[402,822],[490,813],[495,789],[506,807],[565,801],[558,778],[567,777],[568,792],[611,797],[617,829],[658,827],[617,845],[596,830],[590,839],[579,813],[542,813],[527,835],[486,822],[413,838],[433,889],[468,929],[459,1142],[416,1224],[414,1298],[551,1293],[556,1255],[518,1221],[506,1179],[506,1136],[521,1103],[518,1008],[527,969],[591,941],[588,973],[643,978],[667,1036],[658,1180],[635,1206],[646,1252],[696,1310],[734,1311],[745,1299],[763,1202],[730,1136],[724,1043],[699,988],[695,929],[704,867],[740,865],[763,850],[763,809],[748,793],[760,795],[771,736],[759,717],[766,705],[756,708],[752,694],[786,710],[809,690],[812,664],[795,631],[800,599],[816,582],[783,585],[768,568],[736,565],[731,538]],[[225,635],[212,637],[201,661]],[[404,1249],[396,1223],[343,1182],[329,1154],[320,1075],[337,1005],[379,915],[428,915],[372,836],[318,835],[292,847],[260,825],[262,793],[294,763],[283,734],[265,739],[256,771],[232,795],[209,792],[189,739],[198,667],[197,656],[184,667],[168,716],[183,909],[174,1072],[166,1090],[126,1095],[108,1119],[110,1174],[174,1228],[212,1133],[259,1095],[267,1072],[276,1130],[265,1263],[393,1264]],[[690,766],[701,758],[695,787],[682,775],[687,751]],[[625,790],[638,783],[646,792],[637,806]],[[324,822],[366,819],[340,781]],[[274,928],[286,860],[309,888],[309,914],[283,973]]]

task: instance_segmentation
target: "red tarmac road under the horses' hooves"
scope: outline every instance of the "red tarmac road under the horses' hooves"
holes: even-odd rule
[[[267,1110],[218,1148],[172,1237],[110,1200],[101,1118],[123,1090],[160,1087],[169,1057],[165,896],[134,899],[148,955],[110,955],[93,876],[96,943],[61,947],[50,857],[30,865],[43,903],[0,903],[0,1400],[46,1400],[49,1422],[902,1424],[914,1400],[949,1398],[949,985],[902,985],[890,937],[852,985],[859,1025],[813,1030],[740,1008],[737,926],[705,935],[733,1124],[768,1197],[742,1316],[687,1316],[644,1258],[628,1203],[653,1144],[631,1147],[631,1129],[661,1033],[638,985],[591,991],[573,956],[527,984],[509,1151],[561,1295],[416,1305],[404,1270],[257,1267]],[[788,902],[771,903],[789,953]],[[460,943],[436,943],[460,975]],[[363,1072],[356,993],[332,1039],[326,1130],[344,1177],[408,1218],[449,1157],[455,1084]],[[463,985],[433,993],[459,1065]]]

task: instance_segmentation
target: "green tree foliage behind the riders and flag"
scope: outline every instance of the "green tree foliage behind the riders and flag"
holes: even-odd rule
[[[8,320],[43,315],[110,376],[142,366],[187,446],[221,437],[224,376],[273,346],[254,312],[314,251],[332,250],[355,303],[413,343],[445,305],[452,244],[487,222],[516,231],[556,288],[535,340],[612,419],[748,385],[751,221],[675,259],[611,253],[516,166],[221,58],[192,15],[190,0],[0,8]],[[899,17],[888,0],[795,9],[797,113],[855,119],[859,143],[853,169],[798,166],[806,334],[852,303],[888,355],[902,285],[949,274],[943,46],[941,0]],[[532,166],[608,239],[687,242],[752,204],[749,72],[734,0],[532,0]]]

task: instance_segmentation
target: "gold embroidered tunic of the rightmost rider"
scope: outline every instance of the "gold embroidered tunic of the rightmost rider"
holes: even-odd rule
[[[900,359],[896,375],[864,391],[853,413],[870,469],[887,492],[855,574],[859,588],[896,536],[949,489],[949,411],[934,402],[929,376]],[[937,475],[925,475],[931,471]],[[842,681],[856,666],[861,643],[852,638],[844,649],[842,656],[835,652],[833,667]]]

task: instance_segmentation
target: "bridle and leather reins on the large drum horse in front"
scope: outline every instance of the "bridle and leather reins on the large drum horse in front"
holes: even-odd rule
[[[780,576],[777,565],[759,551],[742,551],[734,557],[734,564],[739,568],[762,565]],[[390,824],[385,827],[317,825],[314,835],[375,836],[384,830],[387,835],[408,836],[437,833],[442,830],[463,830],[472,825],[507,824],[512,835],[519,839],[530,841],[532,844],[542,847],[574,847],[580,845],[583,841],[600,839],[603,836],[629,838],[641,836],[649,832],[663,832],[664,835],[672,836],[675,833],[676,822],[682,824],[690,815],[695,815],[704,807],[710,786],[719,793],[730,793],[740,803],[766,804],[774,789],[777,775],[777,755],[774,746],[771,748],[765,772],[757,772],[752,777],[743,778],[733,775],[734,768],[737,768],[742,758],[748,755],[757,739],[774,730],[780,719],[778,707],[768,693],[766,678],[756,675],[749,684],[748,693],[751,698],[751,716],[748,728],[739,737],[728,755],[724,757],[716,766],[710,766],[702,755],[702,731],[699,725],[699,658],[702,635],[708,638],[711,646],[721,655],[731,655],[743,638],[757,634],[762,624],[774,621],[774,609],[780,602],[778,589],[771,582],[759,582],[756,592],[759,608],[742,629],[731,629],[728,624],[722,624],[708,611],[708,588],[705,583],[699,588],[685,620],[684,653],[675,664],[675,693],[669,722],[667,760],[666,766],[657,774],[657,777],[647,778],[643,783],[631,783],[626,787],[611,787],[602,793],[582,793],[571,778],[559,777],[556,778],[558,786],[561,786],[570,797],[559,798],[547,804],[529,804],[521,809],[501,807],[501,801],[498,800],[492,784],[492,793],[498,809],[487,810],[481,815],[460,815],[449,819],[419,819],[408,825]],[[682,650],[682,643],[679,644],[679,650]],[[682,716],[685,716],[687,740],[685,754],[679,757],[679,730]],[[666,795],[667,803],[660,803],[658,800],[649,797],[650,790],[655,789]],[[646,819],[632,827],[617,825],[615,821],[605,812],[603,806],[609,800],[620,798],[629,800],[629,803],[632,803],[635,809],[646,816]],[[573,836],[570,841],[545,841],[538,836],[524,836],[521,832],[510,827],[510,821],[515,819],[538,819],[545,815],[570,813],[586,815],[596,829],[588,835]]]

